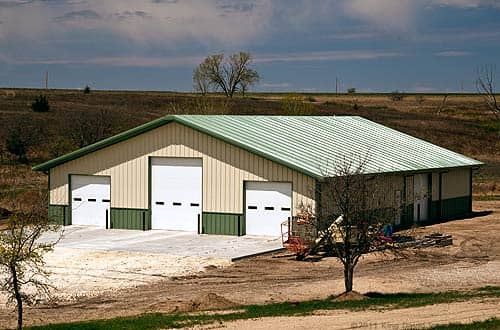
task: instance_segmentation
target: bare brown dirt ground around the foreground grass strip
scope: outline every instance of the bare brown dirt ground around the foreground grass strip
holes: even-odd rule
[[[354,288],[364,293],[378,292],[436,292],[500,285],[500,201],[474,203],[475,217],[450,221],[416,232],[442,232],[453,235],[453,245],[444,248],[420,250],[404,258],[368,255],[356,268]],[[141,273],[147,273],[141,270]],[[90,297],[77,297],[54,305],[39,305],[26,311],[26,322],[44,324],[135,315],[145,312],[172,312],[193,310],[200,297],[216,293],[235,304],[263,304],[279,301],[327,298],[343,290],[342,269],[334,258],[298,262],[286,253],[249,258],[224,268],[206,267],[205,272],[187,276],[160,277],[153,284],[144,284],[119,291],[104,292]],[[499,316],[498,308],[469,302],[472,309],[484,311],[478,318]],[[480,304],[479,306],[476,306]],[[457,321],[457,314],[468,307],[460,304],[440,306],[442,313],[424,307],[425,313],[434,313],[440,323]],[[454,309],[455,307],[456,309]],[[464,307],[465,306],[465,307]],[[480,307],[483,306],[483,307]],[[489,306],[489,305],[488,305]],[[470,306],[469,306],[470,307]],[[336,312],[305,317],[298,324],[308,324],[316,318],[333,322],[340,317]],[[344,312],[345,314],[346,312]],[[378,312],[377,312],[378,313]],[[404,324],[422,324],[418,309],[402,312],[388,311],[389,318],[399,315]],[[394,314],[394,315],[393,315]],[[368,322],[365,313],[351,313],[351,323]],[[358,316],[359,315],[359,318]],[[404,316],[403,316],[404,315]],[[414,317],[412,316],[414,315]],[[430,315],[430,314],[429,314]],[[471,320],[474,319],[471,316]],[[429,316],[429,318],[431,318]],[[382,314],[377,320],[382,320]],[[15,315],[11,309],[0,308],[0,327],[13,326]],[[266,319],[268,322],[272,319]],[[275,325],[281,321],[275,320]],[[305,322],[305,323],[300,323]],[[326,322],[326,321],[325,321]],[[376,321],[378,322],[378,321]],[[434,321],[432,321],[434,322]],[[436,321],[437,322],[437,321]],[[246,323],[245,323],[246,324]],[[250,325],[252,328],[274,328],[267,323]],[[322,323],[318,323],[321,325]],[[228,324],[232,327],[232,324]],[[320,327],[320,326],[318,326]]]

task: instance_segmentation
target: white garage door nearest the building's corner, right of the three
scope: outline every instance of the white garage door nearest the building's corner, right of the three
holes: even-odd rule
[[[247,182],[245,204],[247,235],[280,236],[281,223],[292,216],[292,184]]]

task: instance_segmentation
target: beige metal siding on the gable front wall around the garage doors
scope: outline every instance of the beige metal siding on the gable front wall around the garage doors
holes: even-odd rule
[[[112,207],[148,208],[149,156],[202,158],[205,212],[242,213],[244,180],[292,182],[293,212],[314,206],[313,178],[178,123],[51,169],[50,202],[67,204],[69,174],[94,174],[111,176]]]

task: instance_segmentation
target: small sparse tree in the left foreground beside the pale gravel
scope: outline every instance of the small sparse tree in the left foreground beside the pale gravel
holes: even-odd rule
[[[37,191],[28,196],[24,203],[15,204],[7,228],[0,231],[0,289],[7,293],[8,303],[16,306],[18,329],[23,327],[23,304],[50,297],[43,256],[53,250],[57,240],[43,242],[40,238],[58,229],[47,216],[46,194]]]

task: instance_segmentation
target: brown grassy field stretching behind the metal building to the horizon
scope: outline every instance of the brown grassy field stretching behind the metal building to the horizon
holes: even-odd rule
[[[47,96],[51,110],[35,113],[31,102]],[[148,91],[91,91],[0,89],[0,206],[12,178],[26,177],[18,189],[45,189],[42,173],[28,173],[32,165],[77,149],[74,132],[79,123],[99,126],[104,138],[166,114],[294,115],[283,107],[285,93],[257,93],[244,98],[201,97],[189,93]],[[304,94],[307,115],[360,115],[445,148],[477,158],[485,166],[476,173],[474,193],[500,196],[500,124],[477,95],[408,94],[394,101],[390,94]],[[301,112],[302,113],[302,112]],[[103,127],[100,127],[103,126]],[[19,163],[6,151],[5,141],[15,127],[34,135],[28,160]],[[21,180],[22,181],[22,180]],[[485,197],[487,196],[487,197]],[[492,196],[492,197],[490,197]]]

